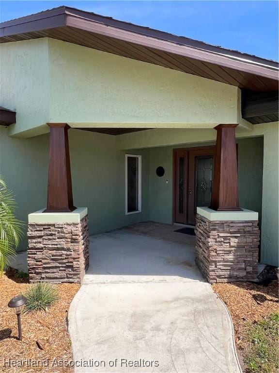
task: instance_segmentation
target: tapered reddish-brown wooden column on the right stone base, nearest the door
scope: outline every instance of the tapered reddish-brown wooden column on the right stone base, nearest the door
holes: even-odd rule
[[[235,127],[237,124],[219,124],[211,206],[217,211],[242,210],[238,205],[237,159]]]

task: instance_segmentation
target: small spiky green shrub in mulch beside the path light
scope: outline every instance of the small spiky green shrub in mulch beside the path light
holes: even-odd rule
[[[47,308],[59,300],[58,289],[46,282],[36,282],[32,284],[24,296],[27,302],[24,308],[25,312],[47,311]]]

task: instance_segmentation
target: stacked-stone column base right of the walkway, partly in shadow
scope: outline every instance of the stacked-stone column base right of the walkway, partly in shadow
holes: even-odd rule
[[[258,220],[216,220],[218,217],[239,219],[242,216],[254,219],[255,215],[246,214],[248,210],[244,210],[244,215],[241,215],[241,211],[213,212],[201,207],[198,207],[197,212],[196,263],[207,281],[257,281],[260,241]],[[208,212],[213,213],[208,215]],[[253,211],[250,213],[257,214]]]

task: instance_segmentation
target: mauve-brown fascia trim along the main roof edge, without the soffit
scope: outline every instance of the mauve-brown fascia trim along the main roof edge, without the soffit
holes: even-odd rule
[[[279,69],[274,67],[274,64],[273,66],[268,65],[268,60],[266,60],[266,64],[263,64],[258,61],[248,60],[248,58],[240,52],[239,56],[236,56],[235,53],[230,55],[229,50],[227,54],[225,49],[222,50],[222,52],[207,51],[206,49],[187,46],[178,42],[154,37],[146,33],[142,34],[131,29],[127,30],[126,28],[121,28],[118,26],[118,23],[121,24],[121,21],[118,20],[112,19],[112,21],[117,25],[115,26],[114,24],[107,24],[103,20],[100,21],[91,19],[90,17],[85,17],[84,14],[86,15],[86,12],[62,6],[28,17],[3,22],[0,25],[0,37],[69,26],[91,33],[139,44],[146,48],[181,55],[187,58],[219,65],[225,68],[232,68],[276,81],[279,80]],[[95,16],[96,15],[94,15],[94,17]],[[103,16],[98,17],[101,19]],[[136,26],[136,29],[137,28],[140,28],[140,26]]]

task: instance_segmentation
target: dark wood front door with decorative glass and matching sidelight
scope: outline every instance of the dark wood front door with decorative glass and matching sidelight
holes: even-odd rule
[[[195,225],[198,206],[209,206],[215,146],[173,151],[173,220]]]

